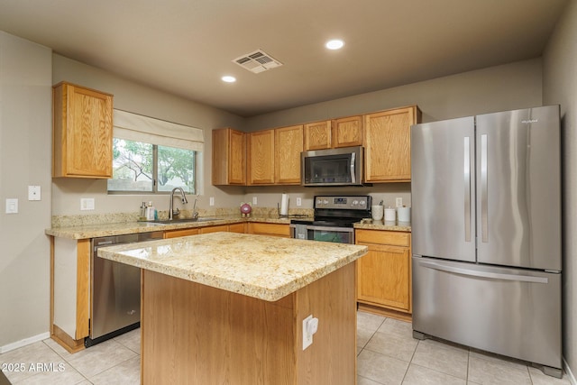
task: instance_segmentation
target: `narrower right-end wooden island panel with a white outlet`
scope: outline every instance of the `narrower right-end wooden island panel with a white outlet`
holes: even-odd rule
[[[354,263],[297,291],[298,384],[356,384]],[[313,344],[302,350],[302,321],[318,318]]]

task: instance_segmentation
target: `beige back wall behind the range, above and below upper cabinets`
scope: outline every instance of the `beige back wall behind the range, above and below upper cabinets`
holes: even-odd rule
[[[423,112],[423,122],[536,106],[541,105],[541,75],[540,59],[520,61],[259,115],[248,118],[245,127],[247,131],[258,131],[283,125],[371,113],[402,105],[418,105]],[[371,188],[338,188],[338,190],[298,186],[247,188],[246,199],[251,201],[252,197],[257,197],[259,205],[276,206],[283,192],[289,193],[289,208],[295,205],[297,197],[303,199],[303,206],[312,207],[316,194],[334,193],[370,194],[374,201],[384,200],[385,206],[394,206],[395,198],[402,197],[403,203],[410,206],[408,183],[376,184]]]

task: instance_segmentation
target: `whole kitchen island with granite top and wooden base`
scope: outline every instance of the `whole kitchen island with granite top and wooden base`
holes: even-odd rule
[[[142,268],[142,383],[356,382],[366,246],[213,233],[102,248]],[[318,318],[303,350],[303,320]]]

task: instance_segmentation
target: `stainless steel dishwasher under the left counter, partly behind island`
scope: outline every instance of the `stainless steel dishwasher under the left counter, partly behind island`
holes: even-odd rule
[[[161,239],[162,232],[93,238],[90,255],[90,335],[86,347],[140,326],[141,270],[98,257],[100,247]]]

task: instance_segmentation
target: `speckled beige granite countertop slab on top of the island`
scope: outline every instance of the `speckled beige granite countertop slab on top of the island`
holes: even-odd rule
[[[276,301],[367,252],[362,245],[211,233],[110,246],[105,259]]]

